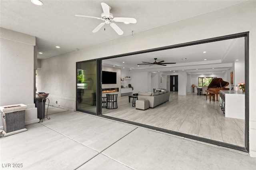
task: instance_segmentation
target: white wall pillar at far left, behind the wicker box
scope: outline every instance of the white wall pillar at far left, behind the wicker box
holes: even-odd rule
[[[34,36],[0,28],[0,106],[25,104],[25,125],[39,122],[34,104]],[[2,115],[0,114],[2,117]],[[2,129],[2,119],[0,120]]]

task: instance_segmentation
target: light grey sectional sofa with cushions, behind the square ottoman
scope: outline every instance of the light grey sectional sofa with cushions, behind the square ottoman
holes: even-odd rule
[[[138,100],[146,99],[149,101],[149,107],[154,108],[166,101],[169,101],[170,92],[161,91],[157,93],[142,93],[138,92]]]

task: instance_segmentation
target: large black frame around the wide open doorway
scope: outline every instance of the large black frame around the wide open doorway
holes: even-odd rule
[[[180,43],[180,44],[176,44],[176,45],[169,45],[169,46],[165,46],[165,47],[158,47],[158,48],[136,51],[136,52],[131,52],[131,53],[112,55],[112,56],[109,56],[109,57],[99,58],[98,60],[99,60],[99,63],[102,63],[103,59],[124,57],[124,56],[128,56],[128,55],[148,53],[148,52],[160,51],[160,50],[164,50],[164,49],[172,49],[172,48],[178,48],[178,47],[186,47],[186,46],[190,46],[190,45],[197,45],[197,44],[209,43],[209,42],[217,42],[217,41],[229,40],[229,39],[241,38],[241,37],[245,38],[245,41],[244,41],[244,45],[245,45],[245,88],[246,88],[246,93],[245,93],[245,147],[236,146],[236,145],[233,145],[233,144],[219,142],[219,141],[216,141],[216,140],[210,140],[210,139],[206,139],[206,138],[202,138],[202,137],[198,137],[198,136],[193,136],[193,135],[190,135],[190,134],[184,134],[184,133],[175,132],[175,131],[172,131],[172,130],[166,130],[166,129],[163,129],[163,128],[152,127],[152,126],[149,126],[149,125],[135,123],[135,122],[132,122],[132,121],[126,121],[126,120],[123,120],[123,119],[118,119],[118,118],[114,118],[114,117],[105,116],[105,115],[102,115],[101,104],[98,105],[99,103],[97,103],[97,107],[98,107],[97,111],[100,111],[98,113],[98,115],[101,116],[101,117],[105,117],[105,118],[120,121],[120,122],[130,123],[132,125],[136,125],[136,126],[140,126],[140,127],[150,128],[150,129],[153,129],[153,130],[158,130],[158,131],[161,131],[161,132],[166,132],[166,133],[169,133],[169,134],[174,134],[174,135],[182,136],[182,137],[185,137],[185,138],[190,138],[190,139],[194,139],[194,140],[198,140],[198,141],[202,141],[202,142],[206,142],[206,143],[210,143],[210,144],[214,144],[214,145],[218,145],[218,146],[224,146],[226,148],[232,148],[232,149],[235,149],[235,150],[249,152],[249,32],[242,32],[242,33],[231,34],[231,35],[220,36],[220,37],[209,38],[209,39],[205,39],[205,40],[198,40],[198,41],[187,42],[187,43]],[[98,65],[98,69],[97,69],[98,73],[99,72],[101,73],[101,69],[99,69],[99,68],[101,68],[101,65],[100,66]],[[97,80],[98,81],[101,80],[101,74],[98,74],[98,79]],[[101,96],[101,85],[100,85],[100,83],[98,83],[97,85],[98,85],[98,92],[100,92],[100,95],[97,96],[99,98],[99,96]],[[100,102],[100,99],[101,99],[101,97],[97,101]]]

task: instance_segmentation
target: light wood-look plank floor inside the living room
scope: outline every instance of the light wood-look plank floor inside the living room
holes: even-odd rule
[[[102,108],[102,114],[176,132],[244,147],[244,120],[226,118],[219,101],[204,95],[171,92],[168,102],[145,111],[137,110],[128,96],[118,98],[118,109]]]

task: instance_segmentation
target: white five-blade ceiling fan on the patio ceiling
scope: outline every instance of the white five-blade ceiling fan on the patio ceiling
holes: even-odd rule
[[[124,24],[135,24],[137,20],[135,18],[122,18],[122,17],[115,17],[113,14],[110,13],[111,7],[108,6],[108,4],[105,4],[104,2],[101,3],[103,13],[100,15],[100,17],[94,17],[94,16],[85,16],[85,15],[75,15],[78,17],[85,17],[85,18],[95,18],[98,20],[102,20],[104,22],[100,23],[92,32],[98,32],[100,28],[102,28],[105,24],[110,24],[110,26],[115,30],[115,32],[118,35],[123,35],[124,32],[114,23],[114,22],[123,22]],[[114,22],[113,22],[114,21]]]

